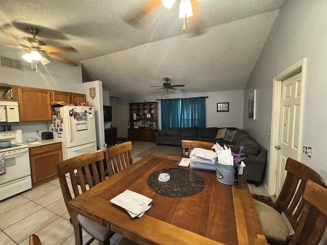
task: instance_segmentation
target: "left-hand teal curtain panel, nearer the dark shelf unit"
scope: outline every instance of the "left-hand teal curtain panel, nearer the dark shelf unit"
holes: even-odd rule
[[[179,99],[160,100],[161,127],[178,128],[180,118]]]

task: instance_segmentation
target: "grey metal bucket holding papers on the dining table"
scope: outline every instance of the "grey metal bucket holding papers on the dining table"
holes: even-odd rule
[[[216,166],[216,176],[217,180],[226,185],[235,185],[238,184],[238,175],[239,168],[238,165],[237,173],[235,173],[236,169],[234,165],[227,165],[218,162],[218,157],[215,157],[215,166]]]

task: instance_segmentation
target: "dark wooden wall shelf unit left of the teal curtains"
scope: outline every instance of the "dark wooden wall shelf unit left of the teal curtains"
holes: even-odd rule
[[[158,128],[158,102],[130,103],[130,140],[155,142]]]

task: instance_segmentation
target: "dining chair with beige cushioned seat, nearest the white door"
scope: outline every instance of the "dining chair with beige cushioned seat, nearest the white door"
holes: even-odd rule
[[[315,170],[292,158],[287,159],[285,169],[287,175],[281,193],[271,207],[253,200],[264,234],[271,245],[286,244],[292,238],[305,206],[302,194],[307,181],[324,184],[323,178]]]

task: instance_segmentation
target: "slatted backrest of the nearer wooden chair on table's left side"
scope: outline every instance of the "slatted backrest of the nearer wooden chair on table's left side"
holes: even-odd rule
[[[104,160],[104,150],[98,150],[56,164],[65,203],[73,199],[68,185],[71,186],[75,197],[77,197],[82,192],[105,180],[106,166]],[[66,177],[68,173],[70,179]]]

